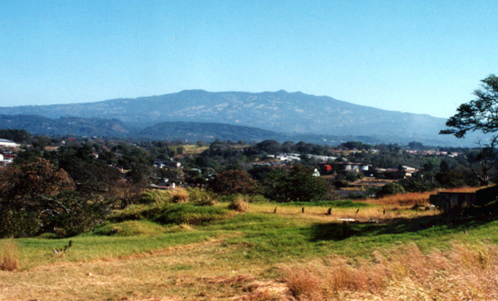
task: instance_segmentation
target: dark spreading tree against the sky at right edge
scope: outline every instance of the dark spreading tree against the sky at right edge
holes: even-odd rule
[[[474,91],[476,99],[460,105],[458,113],[446,122],[448,129],[439,134],[454,135],[457,138],[464,138],[469,132],[476,131],[490,134],[489,143],[480,143],[480,172],[473,169],[481,184],[489,184],[490,169],[496,163],[494,149],[498,143],[498,77],[491,74],[481,82],[481,88]]]

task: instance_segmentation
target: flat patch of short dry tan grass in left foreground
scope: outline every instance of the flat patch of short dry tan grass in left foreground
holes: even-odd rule
[[[210,240],[140,256],[0,271],[0,300],[273,300],[278,296],[272,293],[276,282],[260,276],[266,266],[227,262],[227,252],[220,240]],[[285,290],[283,284],[281,288]]]

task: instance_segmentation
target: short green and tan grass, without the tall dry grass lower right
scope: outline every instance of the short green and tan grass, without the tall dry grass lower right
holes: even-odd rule
[[[426,254],[455,244],[479,250],[498,243],[498,221],[447,223],[428,211],[399,211],[401,215],[380,224],[344,224],[337,220],[341,215],[326,215],[319,205],[307,207],[306,213],[292,207],[273,213],[273,204],[255,203],[238,213],[227,205],[139,205],[117,212],[115,216],[126,217],[122,221],[107,221],[94,232],[70,239],[16,239],[21,272],[0,273],[0,283],[9,288],[0,290],[0,299],[226,300],[246,294],[253,280],[281,282],[282,267],[323,266],[340,256],[369,269],[374,254],[397,258],[412,243]],[[369,210],[377,214],[378,207],[360,213]],[[153,220],[145,219],[147,214]],[[72,248],[64,256],[52,252],[69,240]],[[239,283],[239,278],[246,280]]]

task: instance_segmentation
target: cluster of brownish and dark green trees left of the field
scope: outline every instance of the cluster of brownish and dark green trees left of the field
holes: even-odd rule
[[[0,169],[0,237],[86,232],[154,179],[148,153],[138,147],[74,142],[46,150],[46,143],[19,151]]]

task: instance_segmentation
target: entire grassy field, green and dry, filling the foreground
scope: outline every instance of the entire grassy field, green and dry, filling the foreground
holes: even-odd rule
[[[448,223],[424,198],[222,202],[200,222],[180,204],[158,214],[168,224],[3,240],[0,261],[18,264],[0,271],[0,300],[497,300],[498,222]]]

